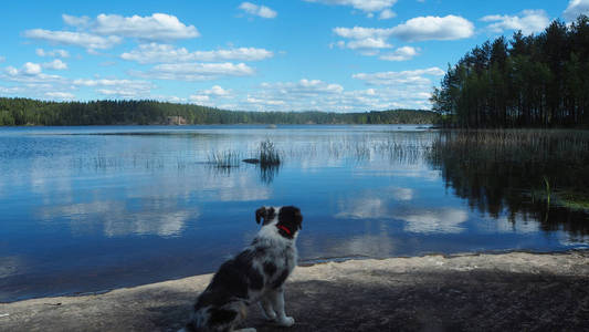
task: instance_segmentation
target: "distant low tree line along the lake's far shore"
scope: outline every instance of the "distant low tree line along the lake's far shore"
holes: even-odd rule
[[[182,118],[186,124],[432,124],[430,111],[366,113],[242,112],[158,101],[48,102],[0,97],[0,125],[150,125]]]

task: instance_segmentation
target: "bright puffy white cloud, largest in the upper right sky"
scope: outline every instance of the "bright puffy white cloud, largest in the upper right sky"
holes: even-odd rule
[[[391,29],[391,35],[404,41],[456,40],[474,33],[474,24],[461,17],[419,17]]]

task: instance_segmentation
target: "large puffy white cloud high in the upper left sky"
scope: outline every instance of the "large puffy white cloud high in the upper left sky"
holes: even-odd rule
[[[99,14],[93,23],[92,31],[103,35],[150,41],[190,39],[200,35],[194,25],[186,25],[177,17],[165,13],[127,18],[117,14]]]

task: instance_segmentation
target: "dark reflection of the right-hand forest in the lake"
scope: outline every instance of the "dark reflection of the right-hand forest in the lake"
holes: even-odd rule
[[[432,144],[429,163],[469,206],[512,229],[589,234],[589,133],[452,131]],[[530,221],[532,222],[532,221]],[[526,221],[527,224],[527,221]]]

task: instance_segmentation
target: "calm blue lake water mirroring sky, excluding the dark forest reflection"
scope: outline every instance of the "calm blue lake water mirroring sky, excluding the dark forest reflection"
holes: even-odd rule
[[[301,208],[303,262],[588,247],[585,212],[481,205],[457,180],[467,169],[432,158],[440,135],[407,125],[0,128],[0,302],[213,272],[254,237],[263,205]],[[266,139],[280,167],[210,163],[252,157]]]

